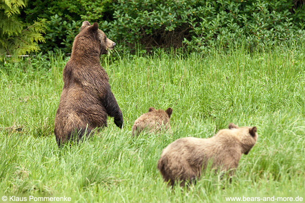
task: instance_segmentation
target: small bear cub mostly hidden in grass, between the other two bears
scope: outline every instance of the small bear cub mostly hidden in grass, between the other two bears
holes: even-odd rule
[[[168,108],[166,111],[156,110],[150,107],[148,112],[140,116],[132,127],[133,136],[138,135],[141,131],[160,132],[162,130],[171,130],[169,119],[173,110]]]

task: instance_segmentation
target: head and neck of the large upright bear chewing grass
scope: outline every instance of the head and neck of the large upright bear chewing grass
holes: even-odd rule
[[[84,21],[73,42],[72,55],[100,56],[107,54],[114,46],[115,43],[99,29],[98,23],[91,25],[88,21]]]

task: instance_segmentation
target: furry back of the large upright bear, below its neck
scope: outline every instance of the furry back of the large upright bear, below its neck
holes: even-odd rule
[[[107,122],[107,112],[102,100],[109,85],[107,73],[101,65],[84,64],[71,57],[65,66],[63,80],[54,123],[57,139],[64,139],[74,129],[103,127]]]

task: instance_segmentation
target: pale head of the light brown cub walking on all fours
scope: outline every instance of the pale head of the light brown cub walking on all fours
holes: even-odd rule
[[[257,141],[257,128],[255,126],[238,127],[237,125],[230,123],[229,129],[232,130],[234,136],[236,136],[237,139],[240,141],[242,153],[248,154]]]

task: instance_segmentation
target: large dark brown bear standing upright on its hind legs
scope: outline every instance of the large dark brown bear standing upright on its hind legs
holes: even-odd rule
[[[107,116],[114,117],[116,126],[123,126],[122,112],[110,90],[108,75],[100,65],[100,55],[108,53],[115,43],[98,27],[96,22],[91,25],[84,21],[73,42],[55,117],[58,146],[71,138],[79,140],[96,127],[107,126]]]

